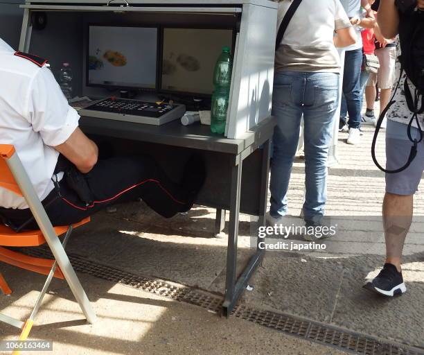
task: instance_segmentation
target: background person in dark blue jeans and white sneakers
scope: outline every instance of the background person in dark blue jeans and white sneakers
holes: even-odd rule
[[[349,115],[347,139],[348,144],[360,143],[360,126],[362,96],[360,89],[360,76],[362,67],[362,36],[361,28],[373,28],[376,19],[371,12],[371,6],[368,0],[344,0],[344,8],[351,24],[355,26],[356,41],[355,44],[346,48],[344,56],[344,74],[343,74],[343,96],[346,100],[346,108]],[[361,8],[364,8],[366,17],[361,14]],[[344,130],[346,126],[346,115],[344,112],[340,115],[339,130]]]

